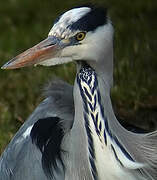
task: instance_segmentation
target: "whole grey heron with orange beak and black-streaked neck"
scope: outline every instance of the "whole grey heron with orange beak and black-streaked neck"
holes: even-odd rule
[[[105,9],[73,8],[48,37],[2,69],[75,61],[74,86],[56,81],[0,158],[0,180],[156,180],[157,131],[128,131],[110,100],[113,27]]]

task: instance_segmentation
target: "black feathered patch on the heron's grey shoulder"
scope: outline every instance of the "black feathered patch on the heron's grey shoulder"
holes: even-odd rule
[[[47,117],[39,119],[31,130],[32,142],[42,153],[42,166],[47,176],[53,177],[53,170],[58,170],[57,161],[60,161],[63,169],[64,164],[61,158],[61,142],[64,136],[61,119],[58,117]]]

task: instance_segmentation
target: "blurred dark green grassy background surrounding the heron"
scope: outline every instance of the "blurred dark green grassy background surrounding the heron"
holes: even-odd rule
[[[0,66],[44,39],[60,13],[87,2],[108,7],[115,27],[112,101],[116,115],[145,129],[155,129],[156,0],[1,0]],[[0,70],[0,153],[44,98],[43,85],[54,76],[73,83],[75,65]]]

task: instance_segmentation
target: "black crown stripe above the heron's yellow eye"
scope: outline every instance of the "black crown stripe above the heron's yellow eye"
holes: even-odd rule
[[[71,30],[94,31],[97,27],[107,23],[107,9],[95,6],[84,7],[89,7],[91,11],[71,24],[69,26]]]

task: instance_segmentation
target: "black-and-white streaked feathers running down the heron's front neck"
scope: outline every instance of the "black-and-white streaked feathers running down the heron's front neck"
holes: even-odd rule
[[[90,121],[92,120],[95,126],[95,132],[99,137],[100,141],[104,140],[106,146],[111,146],[113,149],[113,154],[120,165],[123,166],[123,163],[120,161],[116,150],[113,148],[112,144],[116,144],[117,148],[120,148],[121,152],[124,155],[124,158],[127,158],[130,161],[134,161],[131,155],[127,152],[125,147],[119,142],[118,138],[115,135],[115,132],[111,131],[108,123],[108,116],[105,114],[104,106],[102,104],[101,92],[98,85],[98,79],[96,72],[86,63],[82,63],[81,69],[77,74],[77,83],[80,89],[80,94],[83,99],[84,104],[84,120],[85,127],[88,136],[88,145],[90,153],[90,162],[93,172],[94,179],[97,179],[97,172],[95,166],[95,148],[94,140],[91,133],[91,127],[89,126]],[[88,90],[87,90],[88,89]],[[94,93],[95,92],[95,93]],[[103,93],[106,93],[105,91]],[[96,95],[96,97],[94,97]],[[94,103],[90,103],[91,99],[94,98]],[[95,102],[97,101],[97,102]],[[95,103],[97,103],[98,113],[95,113]],[[95,115],[96,114],[96,115]],[[99,120],[98,120],[99,119]],[[104,124],[104,129],[102,129],[102,123]],[[102,131],[103,130],[103,131]],[[103,133],[102,133],[102,132]],[[103,134],[103,137],[100,137],[100,132]],[[106,136],[109,137],[110,141],[107,142]],[[91,158],[92,157],[92,158]],[[91,161],[92,160],[92,161]]]

